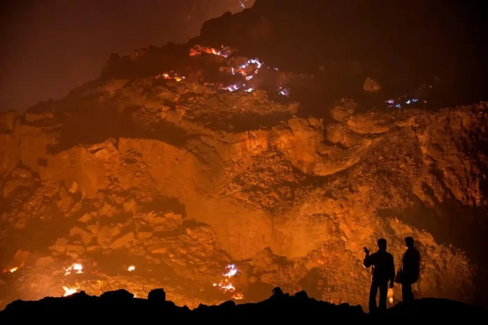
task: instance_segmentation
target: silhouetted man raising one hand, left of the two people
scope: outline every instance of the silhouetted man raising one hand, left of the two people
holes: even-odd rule
[[[370,255],[370,250],[363,248],[366,253],[365,259],[362,262],[366,268],[373,265],[373,275],[370,290],[370,312],[376,312],[377,303],[376,297],[379,288],[379,310],[384,312],[386,310],[386,295],[388,293],[388,281],[390,288],[393,288],[393,280],[395,279],[395,263],[393,263],[393,255],[386,251],[386,239],[380,238],[378,240],[378,251]]]

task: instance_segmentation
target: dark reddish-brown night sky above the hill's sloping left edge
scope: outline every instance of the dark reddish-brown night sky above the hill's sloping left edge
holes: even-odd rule
[[[243,0],[249,7],[254,0]],[[239,0],[4,0],[0,111],[58,99],[96,78],[111,53],[183,43]]]

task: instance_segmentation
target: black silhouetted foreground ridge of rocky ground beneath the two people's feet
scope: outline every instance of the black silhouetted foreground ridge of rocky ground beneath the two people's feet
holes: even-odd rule
[[[415,300],[410,305],[402,303],[387,310],[387,314],[485,314],[481,307],[459,303],[447,299],[424,298]],[[168,315],[226,315],[256,317],[272,315],[282,317],[367,317],[360,305],[351,306],[348,303],[334,305],[324,301],[309,298],[305,291],[294,295],[283,293],[278,287],[273,289],[273,295],[259,303],[245,303],[236,305],[233,301],[226,301],[220,305],[199,305],[194,310],[187,306],[179,307],[165,299],[163,289],[154,289],[147,299],[135,298],[133,293],[124,289],[107,291],[100,297],[88,296],[85,291],[74,293],[62,298],[46,297],[37,301],[15,300],[5,310],[0,312],[2,324],[21,322],[26,320],[49,321],[50,324],[64,324],[65,317],[82,317],[83,319],[100,319],[109,317],[112,321],[127,321],[137,317],[138,321],[161,319]]]

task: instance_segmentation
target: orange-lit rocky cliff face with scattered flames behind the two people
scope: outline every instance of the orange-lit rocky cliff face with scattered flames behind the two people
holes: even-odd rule
[[[364,306],[362,247],[385,237],[398,265],[409,235],[418,296],[475,300],[488,104],[342,99],[314,117],[292,92],[314,78],[170,45],[112,56],[64,99],[2,113],[2,303],[163,286],[196,306],[281,286]]]

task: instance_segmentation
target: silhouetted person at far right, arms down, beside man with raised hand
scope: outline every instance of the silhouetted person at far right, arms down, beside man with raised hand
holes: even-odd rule
[[[402,274],[400,279],[402,282],[402,300],[404,303],[409,303],[414,300],[412,284],[420,276],[420,253],[414,247],[414,239],[412,237],[405,238],[405,246],[407,251],[402,256]]]

